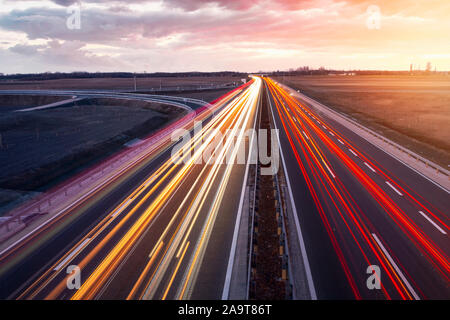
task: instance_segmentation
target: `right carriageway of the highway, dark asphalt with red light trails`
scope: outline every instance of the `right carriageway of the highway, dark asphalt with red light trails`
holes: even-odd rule
[[[265,83],[317,298],[448,299],[448,190]]]

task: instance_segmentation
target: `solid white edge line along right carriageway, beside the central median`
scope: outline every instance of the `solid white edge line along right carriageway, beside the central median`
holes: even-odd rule
[[[268,94],[267,94],[268,95]],[[272,102],[269,97],[270,113],[272,113],[273,123],[275,129],[278,130],[277,123],[275,122],[275,116],[273,115]],[[291,182],[289,179],[286,162],[284,161],[283,148],[281,148],[280,135],[277,134],[278,146],[280,148],[281,163],[283,164],[283,169],[286,175],[286,182],[289,191],[289,198],[291,200],[292,213],[294,216],[295,228],[297,229],[297,238],[300,244],[300,253],[302,255],[303,265],[305,266],[306,280],[308,282],[309,295],[311,300],[317,300],[316,288],[314,287],[314,281],[312,278],[311,267],[309,265],[308,254],[306,253],[305,241],[303,240],[302,229],[300,228],[300,222],[298,221],[297,207],[295,206],[294,195],[292,193]],[[222,297],[223,298],[223,297]]]

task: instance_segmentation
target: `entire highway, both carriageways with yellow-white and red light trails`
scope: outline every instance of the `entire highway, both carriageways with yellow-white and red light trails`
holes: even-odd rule
[[[180,137],[179,161],[180,144],[162,144],[2,254],[0,298],[221,299],[248,174],[236,159],[269,108],[311,298],[449,299],[449,191],[294,93],[254,77],[219,99]]]

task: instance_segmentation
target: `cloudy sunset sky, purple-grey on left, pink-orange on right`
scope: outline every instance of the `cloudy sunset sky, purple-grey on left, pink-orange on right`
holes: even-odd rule
[[[450,70],[448,0],[0,0],[0,73]]]

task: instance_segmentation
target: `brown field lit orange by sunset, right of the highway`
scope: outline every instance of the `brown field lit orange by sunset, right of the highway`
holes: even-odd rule
[[[450,77],[285,76],[275,79],[448,169]]]

